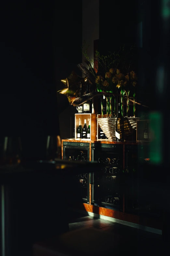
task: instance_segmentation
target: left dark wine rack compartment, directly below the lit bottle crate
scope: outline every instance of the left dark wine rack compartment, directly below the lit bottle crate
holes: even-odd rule
[[[89,143],[63,142],[63,159],[70,161],[89,161]],[[79,172],[72,177],[76,198],[80,202],[89,203],[89,174]]]

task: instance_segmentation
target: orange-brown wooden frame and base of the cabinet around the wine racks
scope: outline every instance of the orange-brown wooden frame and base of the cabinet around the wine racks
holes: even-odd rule
[[[62,140],[62,157],[67,159],[63,149],[65,143],[72,143],[78,148],[77,143],[80,143],[80,149],[83,148],[87,141],[86,140]],[[147,158],[148,156],[148,142],[116,142],[116,141],[98,141],[90,140],[86,150],[89,161],[97,161],[98,157],[95,152],[100,151],[100,157],[106,157],[106,152],[113,157],[113,154],[119,155],[121,161],[121,169],[123,171],[123,178],[126,186],[124,190],[121,190],[121,207],[112,207],[109,204],[96,203],[96,197],[94,197],[94,176],[91,173],[89,176],[89,200],[87,203],[74,202],[71,204],[71,208],[78,211],[84,211],[91,216],[104,218],[110,221],[118,222],[124,225],[129,225],[135,228],[145,229],[155,233],[162,233],[162,219],[161,216],[152,216],[149,212],[146,212],[145,207],[143,211],[138,210],[135,206],[136,195],[138,196],[138,179],[139,175],[137,172],[138,160]],[[115,157],[115,159],[117,159]],[[102,167],[102,165],[101,165]],[[96,176],[97,177],[97,176]],[[129,181],[130,180],[130,181]],[[98,183],[96,183],[98,185]],[[99,184],[100,185],[100,184]],[[127,193],[127,191],[129,193]],[[135,202],[135,203],[134,203]],[[134,211],[136,207],[136,211]],[[148,207],[146,205],[146,207]],[[149,211],[149,210],[147,210]],[[144,214],[146,213],[146,214]],[[144,227],[145,226],[145,227]]]

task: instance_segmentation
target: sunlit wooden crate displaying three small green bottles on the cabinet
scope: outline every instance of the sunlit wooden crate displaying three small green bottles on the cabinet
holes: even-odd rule
[[[75,114],[75,140],[81,140],[77,138],[77,128],[79,125],[79,118],[81,118],[81,125],[82,128],[84,126],[84,119],[87,120],[87,127],[89,126],[88,119],[90,118],[90,139],[83,139],[83,140],[96,140],[97,139],[97,114]]]

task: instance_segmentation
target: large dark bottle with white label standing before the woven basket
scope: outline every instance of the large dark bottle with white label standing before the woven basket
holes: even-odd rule
[[[116,135],[116,141],[124,141],[124,120],[121,114],[120,103],[118,105],[119,105],[119,109],[118,109],[118,116],[116,118],[115,135]]]

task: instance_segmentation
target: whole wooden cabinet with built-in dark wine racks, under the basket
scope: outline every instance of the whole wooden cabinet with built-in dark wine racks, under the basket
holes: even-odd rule
[[[144,217],[141,217],[137,210],[138,201],[136,195],[138,185],[136,180],[138,179],[138,162],[139,159],[145,160],[147,158],[149,153],[148,145],[148,142],[140,141],[62,140],[62,159],[68,160],[71,152],[72,155],[81,158],[78,155],[80,151],[83,154],[86,152],[86,157],[82,160],[79,159],[81,161],[98,162],[100,158],[103,159],[101,169],[98,172],[90,173],[88,179],[85,179],[85,181],[81,177],[80,172],[80,177],[76,178],[79,183],[78,193],[83,194],[85,187],[86,192],[83,194],[81,203],[74,201],[71,207],[134,224],[145,225],[161,231],[163,223],[161,216],[155,217],[149,215],[147,212]],[[72,151],[69,151],[70,149]],[[106,169],[106,172],[103,172],[104,169]],[[121,176],[122,172],[124,174]],[[121,177],[124,177],[126,180],[121,180]],[[106,179],[104,180],[104,178]],[[126,181],[125,187],[123,187],[124,181]],[[129,193],[126,193],[127,187]],[[81,192],[82,189],[84,189],[83,192]]]

